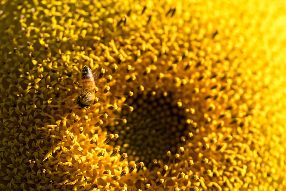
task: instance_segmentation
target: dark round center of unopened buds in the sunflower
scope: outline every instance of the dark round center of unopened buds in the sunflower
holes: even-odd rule
[[[128,154],[128,160],[148,165],[154,159],[164,160],[168,151],[178,151],[180,138],[187,133],[186,118],[171,94],[138,93],[125,103],[134,110],[122,110],[121,118],[127,123],[116,127],[116,145],[121,147],[121,153]]]

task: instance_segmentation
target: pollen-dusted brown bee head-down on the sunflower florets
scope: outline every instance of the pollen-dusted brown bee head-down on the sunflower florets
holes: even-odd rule
[[[82,68],[82,86],[78,82],[75,82],[75,84],[82,88],[82,91],[80,94],[78,94],[78,97],[74,101],[74,103],[77,103],[80,108],[88,109],[92,104],[96,103],[96,85],[97,85],[97,74],[94,72],[92,74],[92,71],[90,67],[84,66]]]

